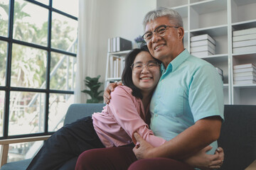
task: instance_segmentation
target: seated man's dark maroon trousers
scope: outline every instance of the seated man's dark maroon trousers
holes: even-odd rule
[[[133,147],[91,149],[78,157],[75,170],[194,170],[188,164],[168,158],[139,159]]]

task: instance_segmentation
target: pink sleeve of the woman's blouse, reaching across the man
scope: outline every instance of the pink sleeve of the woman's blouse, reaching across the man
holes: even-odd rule
[[[137,142],[133,137],[134,132],[138,132],[146,142],[149,142],[154,147],[163,145],[166,140],[154,136],[152,130],[149,130],[149,126],[146,125],[137,112],[137,108],[132,100],[133,97],[132,94],[130,95],[122,87],[114,89],[109,104],[114,119],[132,138],[135,145]]]

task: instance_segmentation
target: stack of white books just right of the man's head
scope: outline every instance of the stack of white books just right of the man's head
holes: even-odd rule
[[[215,55],[215,40],[208,34],[191,37],[191,55],[196,57]]]

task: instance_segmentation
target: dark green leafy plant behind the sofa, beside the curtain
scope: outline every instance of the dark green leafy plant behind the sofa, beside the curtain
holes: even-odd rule
[[[102,91],[98,91],[100,86],[103,84],[102,82],[99,82],[100,75],[97,77],[85,77],[85,86],[87,86],[90,90],[83,90],[82,93],[89,94],[91,97],[90,99],[87,99],[86,103],[102,103],[103,102],[103,96],[100,96]]]

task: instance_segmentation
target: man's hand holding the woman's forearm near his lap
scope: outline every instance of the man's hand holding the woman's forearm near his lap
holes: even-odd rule
[[[133,152],[137,159],[154,157],[152,154],[150,154],[154,147],[146,142],[137,132],[134,133],[134,137],[137,140],[137,145],[134,147]]]

